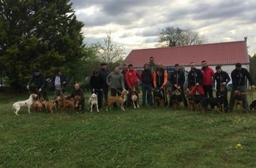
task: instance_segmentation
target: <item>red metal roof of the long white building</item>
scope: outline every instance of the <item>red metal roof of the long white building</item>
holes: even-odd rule
[[[207,61],[208,65],[238,62],[249,64],[246,41],[132,50],[124,59],[124,64],[143,67],[151,56],[154,57],[154,63],[160,62],[163,66],[174,66],[174,64],[188,66],[192,61],[196,65],[201,65],[202,61]]]

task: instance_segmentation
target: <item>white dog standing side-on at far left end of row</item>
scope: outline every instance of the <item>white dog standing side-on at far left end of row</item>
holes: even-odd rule
[[[12,105],[12,111],[15,113],[15,115],[18,115],[18,111],[20,110],[20,107],[28,107],[28,112],[30,113],[30,107],[33,104],[36,97],[37,97],[37,94],[31,94],[29,96],[29,99],[25,101],[15,102]]]

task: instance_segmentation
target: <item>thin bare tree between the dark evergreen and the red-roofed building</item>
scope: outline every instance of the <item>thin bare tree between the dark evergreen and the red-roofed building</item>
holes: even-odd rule
[[[104,39],[104,45],[99,47],[99,61],[108,64],[110,70],[113,70],[115,66],[119,66],[124,61],[124,46],[113,45],[113,39],[110,36],[111,32],[107,33],[107,38]]]

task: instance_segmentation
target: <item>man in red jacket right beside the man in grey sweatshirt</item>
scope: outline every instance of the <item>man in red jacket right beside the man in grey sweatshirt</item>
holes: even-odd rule
[[[138,84],[140,83],[141,81],[141,77],[140,75],[138,74],[138,71],[136,71],[135,69],[133,69],[133,65],[132,64],[129,64],[128,65],[128,71],[127,73],[125,74],[125,80],[127,81],[127,85],[128,85],[128,88],[129,88],[129,93],[128,93],[128,98],[127,99],[131,99],[131,88],[132,86],[135,86],[135,89],[138,89]],[[138,97],[139,99],[139,96],[138,96],[138,93],[136,93],[136,96]],[[127,101],[128,102],[128,101]],[[129,107],[129,104],[127,104],[127,106]]]

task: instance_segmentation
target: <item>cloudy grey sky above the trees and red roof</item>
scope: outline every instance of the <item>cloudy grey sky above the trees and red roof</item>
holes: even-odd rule
[[[256,53],[256,0],[71,0],[87,44],[152,48],[167,26],[197,31],[207,43],[243,41]]]

